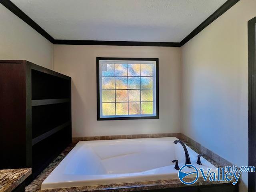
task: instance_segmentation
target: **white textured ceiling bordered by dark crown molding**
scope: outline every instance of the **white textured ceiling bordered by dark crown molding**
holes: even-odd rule
[[[11,0],[55,39],[180,42],[226,0]]]

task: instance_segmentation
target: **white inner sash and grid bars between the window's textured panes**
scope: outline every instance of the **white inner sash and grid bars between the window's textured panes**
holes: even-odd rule
[[[146,63],[145,63],[146,62]],[[152,65],[152,76],[129,76],[129,64],[140,64],[140,75],[141,75],[141,65],[143,64],[149,64],[148,62],[150,62],[150,65]],[[102,64],[114,64],[114,75],[115,76],[102,76]],[[116,76],[116,64],[126,64],[127,66],[127,76]],[[143,117],[143,116],[148,116],[148,117],[154,117],[157,116],[157,112],[156,112],[156,61],[126,61],[126,60],[122,60],[121,62],[118,60],[118,62],[116,62],[116,60],[113,61],[107,61],[107,60],[100,60],[100,117],[102,118],[112,118],[112,117]],[[102,89],[102,78],[103,77],[112,77],[114,78],[114,87],[115,89]],[[127,89],[116,89],[116,78],[120,78],[120,77],[127,77]],[[140,89],[136,88],[136,89],[130,89],[129,88],[129,81],[128,78],[130,77],[136,77],[136,78],[140,78]],[[152,77],[152,86],[153,88],[141,88],[141,78],[142,77]],[[115,102],[102,102],[102,90],[115,90]],[[116,90],[127,90],[127,102],[116,102]],[[140,101],[131,101],[129,102],[129,90],[140,90]],[[152,101],[142,101],[141,100],[141,94],[142,91],[141,90],[152,90],[153,92],[153,100]],[[136,103],[136,102],[140,102],[140,114],[129,114],[129,103]],[[152,102],[153,104],[153,113],[152,114],[142,114],[142,103],[146,103],[146,102]],[[103,103],[115,103],[115,115],[103,115],[102,114],[102,104]],[[116,103],[127,103],[127,115],[116,115]]]

